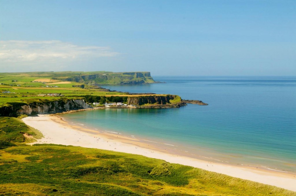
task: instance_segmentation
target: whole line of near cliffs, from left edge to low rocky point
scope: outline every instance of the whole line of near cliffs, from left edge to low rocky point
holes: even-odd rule
[[[94,98],[96,98],[94,100]],[[178,95],[142,95],[142,96],[92,96],[85,95],[83,99],[30,99],[23,102],[10,102],[0,106],[0,116],[17,117],[18,115],[55,114],[70,110],[91,108],[87,102],[124,102],[137,108],[170,108],[186,105]],[[193,101],[192,101],[193,102]],[[194,101],[206,105],[202,101]]]

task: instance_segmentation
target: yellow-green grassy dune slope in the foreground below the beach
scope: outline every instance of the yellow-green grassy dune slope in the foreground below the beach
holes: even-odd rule
[[[51,144],[26,146],[21,143],[28,141],[23,133],[36,137],[40,133],[17,118],[0,117],[0,122],[3,195],[296,195],[140,155]]]

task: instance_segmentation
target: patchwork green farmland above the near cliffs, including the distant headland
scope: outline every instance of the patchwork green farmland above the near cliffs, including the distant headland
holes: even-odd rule
[[[101,77],[107,76],[109,79],[101,81]],[[145,80],[147,83],[154,82],[149,72],[64,71],[0,73],[0,106],[7,102],[30,102],[30,100],[36,99],[59,98],[44,95],[48,93],[61,93],[63,97],[67,98],[77,98],[83,95],[125,95],[126,93],[108,92],[106,89],[97,88],[97,82],[120,84],[122,82],[139,80]],[[42,81],[46,82],[43,83]],[[3,93],[7,91],[9,93]]]

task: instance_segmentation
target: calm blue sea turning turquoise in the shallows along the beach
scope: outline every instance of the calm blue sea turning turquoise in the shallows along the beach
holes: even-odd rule
[[[296,172],[296,77],[154,79],[166,83],[102,87],[123,92],[178,94],[182,99],[198,99],[209,105],[92,110],[63,117],[89,127],[162,143],[188,151],[191,156]]]

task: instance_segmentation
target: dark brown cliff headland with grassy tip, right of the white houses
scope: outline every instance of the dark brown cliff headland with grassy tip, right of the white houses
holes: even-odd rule
[[[178,98],[180,99],[178,102],[172,102],[172,100],[176,100]],[[135,105],[139,107],[180,107],[185,105],[185,103],[177,95],[128,97],[127,101],[128,105]]]

